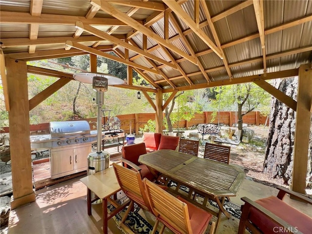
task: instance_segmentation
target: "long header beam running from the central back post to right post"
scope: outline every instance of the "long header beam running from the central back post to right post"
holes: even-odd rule
[[[298,76],[298,69],[267,73],[266,77],[264,76],[264,74],[254,75],[254,76],[249,76],[249,77],[233,78],[231,81],[229,79],[220,80],[220,81],[211,81],[209,84],[207,83],[195,84],[195,85],[189,85],[189,86],[184,86],[184,87],[177,87],[176,89],[178,91],[186,91],[186,90],[192,90],[192,89],[211,88],[211,87],[223,86],[223,85],[248,83],[248,82],[253,82],[253,80],[257,78],[268,80],[268,79],[277,79],[277,78],[288,78],[288,77],[294,77],[294,76]],[[170,93],[170,92],[173,92],[173,89],[163,89],[162,92]]]

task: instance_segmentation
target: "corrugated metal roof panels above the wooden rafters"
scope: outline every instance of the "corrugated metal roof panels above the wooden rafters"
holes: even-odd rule
[[[157,4],[164,4],[162,1],[155,1]],[[136,2],[134,1],[133,4]],[[139,3],[142,3],[139,1]],[[153,1],[148,2],[150,6],[153,6]],[[42,5],[42,14],[52,14],[54,17],[53,22],[45,21],[44,16],[41,18],[31,17],[30,13],[30,0],[1,0],[0,9],[1,14],[5,14],[5,11],[12,12],[12,17],[1,17],[0,18],[0,37],[4,40],[5,43],[2,43],[3,53],[10,54],[10,58],[15,56],[18,58],[20,52],[28,52],[29,44],[29,30],[30,24],[25,22],[36,22],[39,20],[39,32],[38,32],[38,45],[36,46],[36,52],[40,51],[51,51],[53,54],[54,50],[64,49],[65,42],[68,38],[73,37],[76,32],[75,23],[77,20],[86,20],[88,24],[96,25],[94,26],[102,32],[107,32],[111,29],[110,25],[101,25],[98,23],[98,18],[110,18],[114,20],[115,24],[120,24],[120,26],[112,32],[112,35],[124,35],[124,38],[129,37],[130,40],[133,40],[134,43],[140,49],[143,49],[142,38],[143,34],[147,34],[147,50],[152,55],[170,61],[170,57],[163,51],[159,44],[164,44],[165,48],[168,49],[168,52],[171,56],[177,60],[179,67],[183,70],[184,73],[189,75],[189,78],[194,84],[206,83],[207,80],[205,77],[200,74],[200,69],[194,63],[199,61],[199,65],[203,69],[208,70],[212,69],[208,73],[208,76],[212,81],[217,80],[228,80],[229,74],[225,69],[224,62],[219,58],[214,52],[211,51],[209,43],[205,42],[204,39],[201,39],[197,34],[205,34],[209,39],[216,44],[215,39],[212,35],[212,30],[207,24],[206,16],[204,14],[201,4],[206,3],[212,19],[219,16],[220,13],[224,14],[223,18],[217,18],[218,20],[214,21],[214,27],[217,33],[218,40],[221,45],[225,46],[223,52],[227,63],[230,64],[231,76],[233,78],[245,77],[258,75],[263,73],[263,61],[262,59],[262,49],[261,41],[259,36],[253,36],[258,33],[258,27],[255,17],[255,10],[253,2],[250,1],[248,6],[244,8],[237,8],[238,10],[229,13],[229,9],[236,9],[240,4],[246,4],[246,1],[241,0],[210,0],[210,1],[200,1],[199,8],[199,20],[201,26],[195,31],[190,30],[185,19],[180,19],[176,17],[175,13],[172,12],[180,29],[184,32],[184,35],[188,42],[191,45],[194,53],[198,53],[200,56],[197,58],[192,58],[194,60],[189,61],[191,58],[189,48],[185,45],[182,39],[178,36],[178,29],[175,28],[171,20],[169,20],[169,38],[170,44],[168,41],[165,41],[164,38],[164,13],[161,11],[155,11],[154,9],[147,9],[146,7],[140,8],[138,5],[125,6],[120,5],[118,2],[111,3],[116,10],[123,13],[127,13],[132,10],[134,7],[137,8],[137,11],[131,16],[132,19],[142,20],[138,24],[132,25],[130,20],[122,20],[123,18],[114,20],[114,17],[109,13],[99,10],[95,14],[94,19],[86,20],[89,10],[92,8],[90,0],[44,0]],[[145,4],[145,3],[142,3]],[[184,10],[191,19],[194,20],[194,0],[188,0],[181,5],[181,9]],[[286,69],[298,68],[300,64],[311,62],[312,60],[312,0],[265,0],[263,1],[263,19],[264,19],[264,28],[265,28],[265,51],[266,57],[271,56],[271,59],[266,61],[267,64],[267,73],[283,71]],[[23,17],[17,17],[21,13],[28,13],[23,15]],[[151,23],[148,22],[151,19],[151,16],[156,16],[160,14],[157,18]],[[59,17],[58,17],[59,16]],[[65,17],[62,17],[65,16]],[[125,14],[124,17],[127,17]],[[77,18],[80,17],[80,18]],[[92,17],[91,17],[92,18]],[[66,23],[62,23],[62,20],[66,19]],[[118,20],[119,19],[119,20]],[[287,24],[293,20],[301,19],[301,22],[298,23],[292,22],[292,24]],[[4,21],[3,21],[4,20]],[[19,21],[16,21],[19,20]],[[23,22],[23,20],[25,20]],[[97,20],[96,23],[92,24],[93,20]],[[101,19],[100,19],[101,20]],[[105,22],[106,20],[103,20]],[[124,22],[123,22],[124,21]],[[129,21],[129,22],[128,22]],[[119,22],[119,23],[118,23]],[[136,28],[142,26],[140,23],[149,23],[149,28],[142,28],[141,32],[136,32]],[[129,23],[129,25],[124,24]],[[273,32],[272,28],[280,27]],[[146,31],[149,30],[149,31]],[[270,30],[269,30],[270,29]],[[198,32],[197,32],[198,30]],[[140,30],[139,30],[140,31]],[[134,33],[134,36],[131,34]],[[158,35],[156,37],[156,35]],[[79,39],[83,37],[92,36],[90,33],[83,32],[80,35]],[[49,40],[43,39],[51,38]],[[64,39],[63,39],[64,38]],[[91,38],[91,37],[90,37]],[[174,39],[172,39],[174,38]],[[10,41],[12,39],[12,41]],[[13,39],[20,39],[19,41]],[[58,39],[58,40],[57,40]],[[161,40],[162,39],[162,40]],[[239,42],[236,40],[241,39]],[[23,43],[23,40],[25,42]],[[27,41],[26,41],[27,40]],[[62,40],[64,42],[62,42]],[[55,42],[53,42],[55,41]],[[92,47],[96,41],[90,40],[84,42],[78,42],[84,46]],[[227,43],[231,42],[232,45],[228,46]],[[16,44],[15,44],[16,43]],[[206,44],[207,43],[207,44]],[[10,47],[5,47],[9,44]],[[99,45],[113,45],[113,42],[102,41]],[[169,47],[174,46],[175,49]],[[304,52],[295,51],[296,49],[301,49],[307,47]],[[97,47],[95,47],[97,48]],[[125,49],[118,46],[118,49],[121,53],[124,53]],[[308,51],[307,51],[308,50]],[[211,53],[210,53],[211,52]],[[287,53],[285,56],[284,52]],[[70,50],[68,51],[70,53]],[[280,53],[280,54],[279,54]],[[183,54],[183,55],[182,55]],[[277,55],[276,55],[277,54]],[[272,55],[277,56],[277,58],[272,59]],[[25,58],[25,53],[22,55]],[[36,55],[37,56],[37,55]],[[40,56],[40,53],[38,53]],[[45,55],[42,55],[44,57]],[[64,57],[64,55],[61,55]],[[136,52],[129,50],[129,57],[132,58],[137,56]],[[27,57],[27,56],[26,56]],[[30,55],[31,57],[31,55]],[[40,57],[38,57],[40,58]],[[256,60],[253,60],[256,59]],[[27,60],[27,58],[25,59]],[[131,59],[132,60],[132,59]],[[190,59],[191,60],[191,59]],[[249,63],[240,63],[242,61],[248,61]],[[225,61],[225,60],[224,60]],[[141,56],[137,56],[134,59],[134,62],[151,68],[151,64]],[[181,73],[169,66],[162,65],[160,62],[155,61],[156,66],[160,68],[161,71],[168,78],[173,79],[172,82],[176,86],[188,86],[189,83],[185,78],[182,77]],[[198,65],[198,64],[197,64]],[[209,70],[208,70],[209,71]],[[148,77],[154,81],[164,80],[160,75],[154,73],[145,72]],[[194,75],[192,75],[194,74]],[[171,88],[167,82],[158,83],[163,89]]]

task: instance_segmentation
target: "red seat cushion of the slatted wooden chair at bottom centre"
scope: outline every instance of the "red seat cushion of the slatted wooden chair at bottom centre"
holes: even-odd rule
[[[177,196],[177,199],[187,204],[193,234],[204,233],[208,228],[209,220],[213,217],[213,215],[202,209],[199,209],[198,207],[180,196]]]

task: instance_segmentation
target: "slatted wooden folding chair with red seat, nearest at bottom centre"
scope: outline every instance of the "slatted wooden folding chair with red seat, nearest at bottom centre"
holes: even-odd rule
[[[167,227],[175,234],[203,234],[206,232],[212,216],[210,213],[199,209],[182,197],[175,197],[156,184],[143,179],[145,194],[149,201],[153,214],[156,216],[156,223],[153,233],[161,222],[159,234],[162,234]],[[212,223],[210,233],[215,231],[215,222]]]

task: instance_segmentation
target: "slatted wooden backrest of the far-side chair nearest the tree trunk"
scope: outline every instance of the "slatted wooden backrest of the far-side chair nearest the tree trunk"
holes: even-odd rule
[[[231,147],[206,142],[204,158],[229,164]]]

